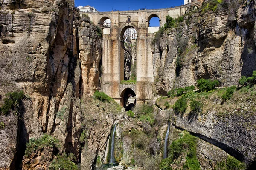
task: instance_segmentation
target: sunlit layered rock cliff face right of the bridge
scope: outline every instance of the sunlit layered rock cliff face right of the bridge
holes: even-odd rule
[[[157,92],[195,85],[201,78],[229,86],[241,75],[251,76],[256,69],[255,1],[237,6],[190,12],[163,33],[152,48]]]

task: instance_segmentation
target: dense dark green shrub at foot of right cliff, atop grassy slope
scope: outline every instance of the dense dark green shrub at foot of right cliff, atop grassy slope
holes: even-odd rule
[[[211,91],[219,85],[218,80],[210,80],[210,79],[199,79],[197,81],[197,87],[199,91]]]

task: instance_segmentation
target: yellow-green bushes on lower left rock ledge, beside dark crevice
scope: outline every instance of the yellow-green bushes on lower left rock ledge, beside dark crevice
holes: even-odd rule
[[[30,155],[36,150],[44,147],[56,149],[58,148],[58,140],[47,134],[44,134],[38,139],[31,138],[29,139],[29,142],[26,143],[25,155]]]

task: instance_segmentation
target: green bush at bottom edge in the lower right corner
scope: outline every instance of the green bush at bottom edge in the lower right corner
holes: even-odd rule
[[[228,156],[226,161],[217,164],[214,170],[245,170],[246,165],[232,156]]]

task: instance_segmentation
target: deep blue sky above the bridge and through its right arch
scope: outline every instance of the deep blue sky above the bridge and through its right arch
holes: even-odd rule
[[[75,0],[75,6],[94,6],[98,11],[119,11],[146,9],[160,9],[171,6],[180,6],[184,0]],[[159,19],[154,17],[150,20],[150,26],[159,26]]]

